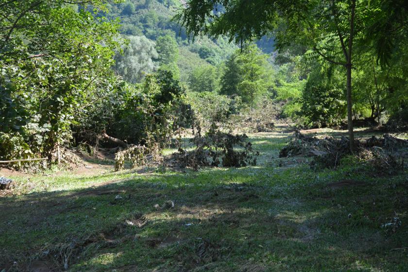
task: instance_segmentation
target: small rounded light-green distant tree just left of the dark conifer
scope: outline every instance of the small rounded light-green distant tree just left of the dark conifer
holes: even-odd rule
[[[190,89],[195,92],[217,91],[217,71],[212,65],[199,66],[190,73],[188,83]]]

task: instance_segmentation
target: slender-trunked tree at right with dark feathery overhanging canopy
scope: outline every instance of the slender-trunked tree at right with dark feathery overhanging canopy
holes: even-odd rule
[[[315,56],[344,67],[350,151],[353,152],[353,47],[365,35],[373,35],[366,32],[364,24],[370,20],[370,14],[378,10],[380,2],[295,0],[289,4],[286,0],[276,0],[271,4],[263,0],[190,0],[176,18],[189,34],[207,33],[215,37],[227,34],[230,40],[235,39],[241,45],[248,39],[275,32],[278,49],[296,41],[309,47]],[[220,3],[225,13],[213,15],[212,8]]]

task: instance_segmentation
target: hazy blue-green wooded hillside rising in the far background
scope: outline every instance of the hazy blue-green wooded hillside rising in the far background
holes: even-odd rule
[[[179,47],[177,66],[180,80],[187,82],[189,73],[197,66],[218,66],[238,47],[226,38],[212,40],[207,37],[188,39],[186,31],[172,18],[185,1],[178,0],[128,0],[109,4],[108,13],[100,15],[110,19],[119,18],[121,34],[146,36],[152,41],[165,35],[174,37]],[[203,53],[204,52],[204,53]]]

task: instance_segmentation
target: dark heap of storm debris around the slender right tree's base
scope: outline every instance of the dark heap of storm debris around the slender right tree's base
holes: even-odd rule
[[[369,166],[374,172],[395,173],[404,169],[404,158],[408,157],[408,140],[389,134],[372,136],[365,140],[355,140],[355,152],[350,153],[348,137],[306,136],[295,131],[295,139],[290,141],[279,153],[279,157],[298,155],[311,156],[312,167],[336,168],[348,158]]]

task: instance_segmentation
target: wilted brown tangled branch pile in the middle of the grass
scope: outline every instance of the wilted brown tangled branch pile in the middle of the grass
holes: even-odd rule
[[[252,149],[248,136],[232,135],[218,130],[212,125],[204,135],[197,135],[191,139],[196,145],[195,150],[186,151],[179,148],[173,154],[173,159],[182,167],[191,167],[197,170],[201,166],[244,167],[256,165],[258,152]]]

